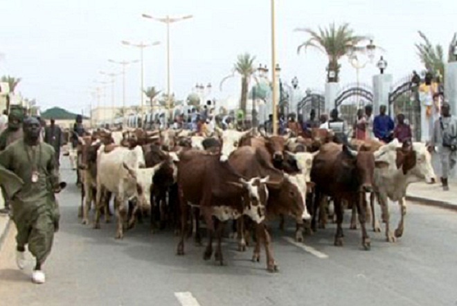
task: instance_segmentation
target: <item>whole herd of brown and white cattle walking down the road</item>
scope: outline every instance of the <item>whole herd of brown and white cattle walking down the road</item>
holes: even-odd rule
[[[238,247],[245,251],[253,238],[253,260],[265,246],[267,269],[278,267],[271,251],[267,222],[285,217],[296,222],[295,237],[337,223],[334,245],[343,245],[343,212],[352,209],[350,228],[361,227],[362,246],[370,249],[366,224],[380,231],[374,201],[382,210],[385,235],[395,242],[404,231],[405,195],[409,183],[433,183],[431,156],[422,143],[386,145],[375,140],[337,143],[331,131],[312,129],[302,135],[269,136],[216,129],[212,136],[194,136],[187,130],[111,132],[98,129],[78,137],[74,168],[82,182],[80,217],[89,224],[95,206],[95,228],[100,217],[110,219],[114,197],[116,238],[125,228],[150,215],[153,230],[166,226],[181,235],[177,254],[184,254],[185,238],[201,242],[201,219],[208,230],[204,259],[213,255],[223,264],[224,224],[233,221]],[[368,201],[367,199],[370,199]],[[400,204],[400,222],[392,233],[388,199]]]

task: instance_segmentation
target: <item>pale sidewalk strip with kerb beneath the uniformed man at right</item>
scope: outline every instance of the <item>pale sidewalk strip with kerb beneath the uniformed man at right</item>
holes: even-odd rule
[[[457,183],[449,183],[449,191],[443,191],[441,183],[411,183],[406,199],[420,204],[457,210]]]

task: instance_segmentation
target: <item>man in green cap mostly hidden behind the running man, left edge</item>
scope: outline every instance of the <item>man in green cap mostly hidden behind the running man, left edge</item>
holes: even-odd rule
[[[0,151],[14,143],[19,138],[22,138],[22,120],[24,114],[19,109],[13,109],[8,116],[8,127],[0,134]],[[3,198],[5,199],[5,208],[0,209],[0,213],[10,213],[10,203],[6,197],[6,192],[2,189]]]

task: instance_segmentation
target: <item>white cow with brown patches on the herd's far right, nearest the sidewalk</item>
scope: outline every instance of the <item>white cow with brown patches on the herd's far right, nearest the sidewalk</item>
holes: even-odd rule
[[[413,143],[403,146],[397,141],[383,145],[375,152],[374,181],[375,191],[382,208],[382,219],[386,223],[386,240],[395,242],[397,237],[402,237],[404,231],[404,216],[406,215],[406,188],[410,183],[427,181],[434,183],[435,172],[431,166],[431,156],[424,143]],[[392,235],[389,228],[389,213],[387,199],[398,201],[400,204],[401,219],[397,229]],[[373,228],[379,228],[374,217],[372,204]]]

